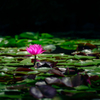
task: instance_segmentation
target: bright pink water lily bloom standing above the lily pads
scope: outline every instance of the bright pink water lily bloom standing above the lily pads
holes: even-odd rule
[[[31,55],[37,55],[43,53],[43,47],[39,44],[30,45],[29,48],[26,49]]]

